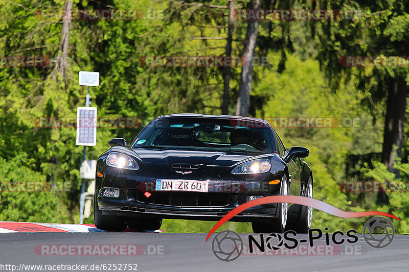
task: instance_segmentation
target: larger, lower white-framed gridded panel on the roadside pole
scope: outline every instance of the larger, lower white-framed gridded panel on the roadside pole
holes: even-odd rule
[[[97,108],[77,108],[77,145],[97,144]]]

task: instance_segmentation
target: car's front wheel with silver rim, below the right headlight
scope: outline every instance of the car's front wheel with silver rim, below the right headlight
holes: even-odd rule
[[[288,194],[288,178],[284,174],[281,180],[280,195]],[[254,233],[284,233],[287,224],[288,203],[277,203],[277,217],[269,222],[252,222]]]

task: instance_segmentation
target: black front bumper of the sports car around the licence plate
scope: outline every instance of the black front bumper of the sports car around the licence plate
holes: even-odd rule
[[[126,171],[105,172],[103,178],[97,177],[97,196],[101,188],[120,189],[118,198],[98,196],[99,210],[103,215],[217,221],[247,202],[249,195],[278,195],[280,191],[280,184],[268,184],[268,181],[277,179],[277,176],[268,173],[260,175],[261,181],[244,178],[241,181],[210,181],[208,193],[158,192],[155,191],[155,179],[135,178],[126,174]],[[151,195],[147,197],[145,192]],[[275,203],[256,206],[236,215],[231,221],[266,221],[276,217],[276,208]]]

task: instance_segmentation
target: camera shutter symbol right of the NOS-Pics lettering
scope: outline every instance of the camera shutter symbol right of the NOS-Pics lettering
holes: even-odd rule
[[[385,234],[376,234],[374,235],[373,231],[376,227],[383,228]],[[392,229],[392,233],[390,233]],[[367,233],[368,231],[368,233]],[[391,220],[384,217],[373,217],[369,219],[365,225],[363,225],[363,239],[375,249],[382,249],[392,243],[393,238],[395,237],[395,228]]]

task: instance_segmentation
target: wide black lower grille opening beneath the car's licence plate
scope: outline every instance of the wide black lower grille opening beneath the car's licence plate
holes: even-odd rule
[[[139,203],[173,207],[225,207],[229,206],[230,194],[194,192],[152,192],[149,197],[139,190],[127,190],[128,199]]]

